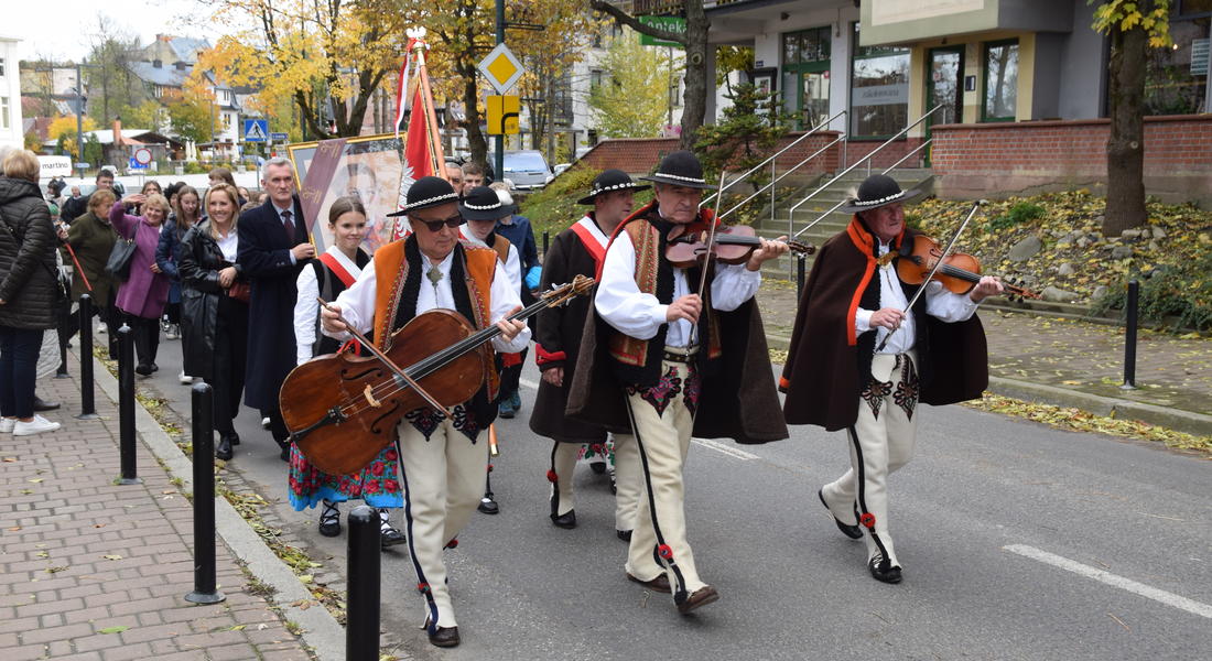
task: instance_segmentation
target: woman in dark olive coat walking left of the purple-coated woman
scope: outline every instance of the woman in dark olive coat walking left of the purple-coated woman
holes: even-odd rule
[[[114,251],[118,232],[109,223],[109,207],[118,199],[113,190],[98,188],[88,196],[87,211],[76,216],[68,227],[68,245],[80,262],[80,273],[72,278],[72,301],[87,294],[92,298],[93,314],[101,315],[109,332],[109,359],[118,359],[118,283],[105,270],[109,255]],[[80,324],[75,324],[80,327]]]

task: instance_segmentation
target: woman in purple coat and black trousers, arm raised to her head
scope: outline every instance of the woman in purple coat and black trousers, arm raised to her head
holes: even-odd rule
[[[127,206],[142,205],[142,216],[126,213]],[[168,300],[168,277],[155,263],[160,243],[160,226],[168,217],[168,200],[160,194],[127,195],[114,203],[109,222],[126,239],[135,240],[130,277],[118,287],[118,309],[126,314],[126,323],[135,331],[135,371],[148,376],[156,371],[155,353],[160,346],[160,315]]]

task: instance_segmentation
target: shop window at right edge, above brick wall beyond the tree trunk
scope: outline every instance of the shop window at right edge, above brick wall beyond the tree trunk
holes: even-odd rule
[[[1205,0],[1212,7],[1212,0]],[[1194,12],[1195,2],[1183,2]],[[1208,82],[1208,25],[1212,16],[1171,18],[1167,49],[1149,49],[1145,61],[1144,107],[1147,115],[1190,115],[1206,113]]]

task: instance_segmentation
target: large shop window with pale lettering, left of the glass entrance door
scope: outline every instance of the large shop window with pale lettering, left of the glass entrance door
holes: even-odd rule
[[[853,27],[850,135],[888,138],[909,124],[909,49],[859,46]]]

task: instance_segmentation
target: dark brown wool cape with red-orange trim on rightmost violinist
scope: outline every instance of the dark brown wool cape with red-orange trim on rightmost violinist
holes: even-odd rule
[[[892,250],[908,250],[916,230],[905,229]],[[856,216],[825,241],[804,286],[779,388],[787,393],[788,424],[817,424],[833,432],[858,420],[859,393],[870,378],[875,330],[854,336],[854,308],[879,308],[875,274],[877,239]],[[904,246],[904,247],[902,247]],[[905,297],[916,287],[902,284]],[[862,304],[861,304],[862,303]],[[915,349],[921,401],[941,406],[978,399],[989,386],[989,357],[977,315],[948,324],[914,306]]]

